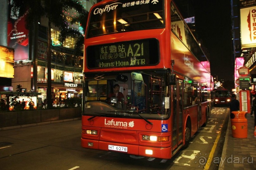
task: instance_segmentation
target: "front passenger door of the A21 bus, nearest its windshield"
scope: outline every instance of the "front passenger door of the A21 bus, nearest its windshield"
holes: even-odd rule
[[[183,126],[183,81],[177,80],[178,83],[173,86],[173,120],[172,120],[172,149],[176,149],[182,144]]]

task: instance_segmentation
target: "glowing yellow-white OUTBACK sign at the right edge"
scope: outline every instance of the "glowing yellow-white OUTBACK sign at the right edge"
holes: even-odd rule
[[[256,6],[240,9],[242,48],[256,45]]]

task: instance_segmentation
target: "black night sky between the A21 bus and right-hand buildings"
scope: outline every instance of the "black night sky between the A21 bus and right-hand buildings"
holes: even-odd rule
[[[232,81],[230,0],[194,0],[196,32],[210,54],[211,74]]]

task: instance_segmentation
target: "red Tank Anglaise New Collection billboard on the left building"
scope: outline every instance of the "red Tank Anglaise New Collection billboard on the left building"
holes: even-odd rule
[[[29,30],[25,28],[26,14],[16,18],[10,8],[8,14],[7,45],[15,49],[14,60],[28,60]]]

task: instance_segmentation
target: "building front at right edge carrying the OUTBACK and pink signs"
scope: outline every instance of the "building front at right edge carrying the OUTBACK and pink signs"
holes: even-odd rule
[[[235,87],[239,87],[239,79],[246,78],[253,84],[256,80],[256,1],[231,0],[232,9],[232,40],[233,56],[235,61],[234,81]],[[250,74],[248,77],[239,76],[239,68],[246,66]],[[251,79],[250,79],[251,78]],[[252,86],[254,89],[254,85]]]

